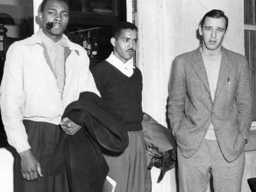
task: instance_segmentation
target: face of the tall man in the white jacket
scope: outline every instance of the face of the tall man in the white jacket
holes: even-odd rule
[[[49,0],[45,4],[44,11],[40,13],[42,19],[42,30],[54,42],[58,42],[68,24],[68,5],[63,1]],[[52,28],[47,23],[52,22]]]

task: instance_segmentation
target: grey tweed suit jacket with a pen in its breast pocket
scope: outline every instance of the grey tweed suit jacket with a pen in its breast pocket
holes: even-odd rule
[[[243,152],[252,123],[252,91],[244,56],[222,47],[214,100],[200,47],[175,58],[168,118],[180,152],[193,156],[212,122],[221,152],[232,162]]]

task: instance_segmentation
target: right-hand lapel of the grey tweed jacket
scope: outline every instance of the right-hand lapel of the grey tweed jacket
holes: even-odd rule
[[[230,61],[230,58],[228,58],[228,53],[224,47],[222,47],[222,56],[221,56],[221,63],[220,63],[220,72],[218,77],[218,83],[215,91],[215,97],[214,101],[218,98],[220,95],[220,92],[228,81],[228,75],[230,74],[230,71],[232,70],[232,62]]]

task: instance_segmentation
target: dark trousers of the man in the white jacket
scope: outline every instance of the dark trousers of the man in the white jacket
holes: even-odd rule
[[[54,148],[60,136],[58,125],[46,122],[23,121],[31,152],[41,165],[43,177],[27,181],[20,173],[20,157],[14,157],[14,192],[69,192],[67,172],[58,176],[48,174]]]

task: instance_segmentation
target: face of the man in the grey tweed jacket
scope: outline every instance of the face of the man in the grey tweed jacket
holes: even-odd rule
[[[199,33],[203,36],[204,51],[221,51],[221,44],[226,35],[226,23],[223,17],[206,17],[203,26],[199,27]]]

